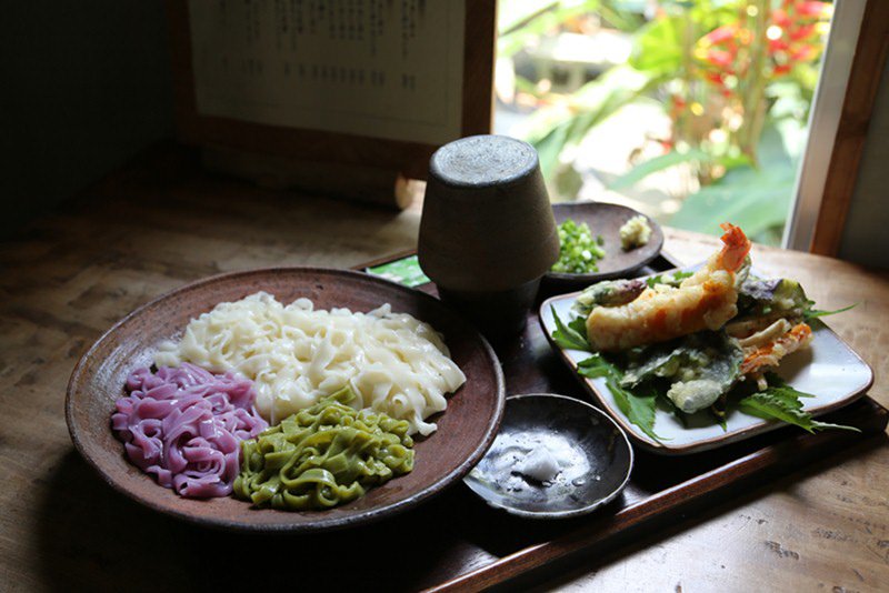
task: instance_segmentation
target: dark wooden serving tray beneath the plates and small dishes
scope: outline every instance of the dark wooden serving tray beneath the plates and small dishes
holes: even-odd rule
[[[398,258],[390,261],[394,259]],[[372,264],[379,263],[384,262]],[[638,273],[645,275],[676,265],[667,257],[659,257]],[[419,289],[436,293],[431,284]],[[546,287],[543,292],[541,296],[548,295]],[[589,401],[573,373],[547,342],[536,308],[523,335],[493,345],[503,366],[508,394],[551,392]],[[488,507],[459,483],[427,504],[383,522],[320,535],[276,537],[274,542],[252,540],[252,545],[273,549],[276,559],[290,557],[299,574],[293,583],[306,590],[316,584],[356,590],[372,585],[387,591],[527,586],[563,572],[605,546],[613,551],[630,536],[666,522],[676,523],[703,502],[712,504],[720,496],[742,493],[753,481],[759,484],[766,478],[798,470],[806,462],[885,438],[887,420],[886,409],[862,398],[825,416],[827,422],[858,426],[861,434],[808,434],[789,426],[682,458],[663,458],[637,449],[636,468],[623,493],[582,517],[547,522],[518,519]],[[264,562],[274,563],[272,559]],[[299,569],[303,565],[317,570]]]

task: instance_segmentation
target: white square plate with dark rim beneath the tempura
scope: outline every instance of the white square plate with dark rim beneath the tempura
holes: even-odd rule
[[[553,349],[577,372],[578,362],[590,356],[580,350],[563,350],[552,340],[556,321],[552,311],[566,323],[572,319],[570,309],[579,292],[561,294],[547,299],[540,305],[540,324]],[[813,340],[811,345],[796,352],[782,361],[778,374],[790,385],[813,398],[806,399],[805,410],[818,416],[842,408],[861,395],[873,383],[873,371],[846,342],[818,320],[809,322]],[[598,401],[599,405],[627,431],[630,438],[648,451],[663,455],[683,455],[707,451],[725,444],[749,439],[757,434],[778,429],[785,424],[766,421],[737,409],[729,410],[726,430],[722,430],[707,412],[688,416],[687,424],[672,413],[658,406],[655,418],[655,434],[661,442],[645,434],[637,425],[630,423],[615,401],[605,379],[587,379],[578,375],[583,385]]]

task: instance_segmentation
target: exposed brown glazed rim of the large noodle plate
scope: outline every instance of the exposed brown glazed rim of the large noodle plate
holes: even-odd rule
[[[470,376],[470,373],[467,372],[467,382],[458,389],[457,392],[448,395],[448,409],[443,413],[432,416],[432,421],[439,424],[439,430],[427,439],[420,439],[414,448],[417,450],[418,461],[420,461],[420,450],[422,449],[428,451],[424,458],[431,456],[431,459],[424,459],[423,461],[428,462],[430,465],[434,465],[437,463],[437,455],[434,453],[437,450],[441,450],[448,445],[448,439],[439,439],[437,446],[430,448],[430,443],[436,445],[436,438],[441,435],[442,425],[449,423],[451,425],[457,425],[460,421],[472,422],[472,418],[460,418],[459,411],[473,411],[471,408],[473,404],[472,398],[479,395],[477,393],[479,385],[485,385],[487,382],[490,383],[493,389],[486,389],[486,393],[482,394],[481,399],[478,401],[478,405],[483,406],[485,414],[477,421],[478,425],[473,426],[476,439],[472,440],[472,442],[466,443],[469,453],[465,455],[465,459],[461,456],[459,460],[453,460],[453,463],[456,463],[455,466],[449,468],[447,472],[440,475],[430,476],[427,480],[428,483],[421,482],[417,484],[416,488],[413,485],[404,488],[403,484],[406,484],[412,475],[416,475],[418,472],[417,465],[414,465],[413,472],[393,479],[376,489],[371,489],[366,496],[353,501],[353,503],[327,511],[289,512],[271,509],[252,509],[249,502],[238,501],[232,496],[208,500],[184,499],[173,493],[171,490],[157,484],[153,478],[143,473],[124,458],[122,443],[113,435],[110,424],[113,402],[117,398],[123,395],[123,383],[120,382],[118,385],[111,384],[102,386],[100,375],[104,372],[103,368],[113,366],[116,369],[113,373],[118,375],[116,379],[119,379],[120,371],[117,369],[126,368],[131,371],[140,365],[140,363],[147,363],[146,353],[153,352],[158,340],[158,338],[154,336],[154,341],[146,343],[146,341],[151,338],[147,338],[144,334],[137,334],[134,338],[130,336],[129,340],[133,344],[132,348],[139,349],[139,352],[142,354],[141,359],[127,359],[126,361],[114,360],[116,358],[113,355],[109,356],[107,354],[109,352],[116,354],[126,350],[123,346],[128,345],[128,343],[123,341],[127,338],[124,332],[132,330],[137,322],[150,322],[153,318],[160,319],[166,314],[166,306],[174,304],[177,299],[197,299],[201,295],[206,298],[208,291],[212,293],[214,289],[236,290],[234,287],[237,284],[250,285],[249,281],[256,282],[270,279],[270,282],[273,283],[287,282],[288,279],[291,278],[296,280],[306,278],[313,279],[312,287],[314,290],[323,290],[322,287],[326,282],[329,285],[339,284],[340,289],[350,285],[363,287],[364,289],[370,289],[371,292],[369,294],[374,298],[379,295],[378,304],[384,302],[392,303],[393,311],[404,310],[398,309],[393,302],[400,301],[402,304],[407,304],[408,308],[411,308],[411,310],[414,308],[422,309],[436,316],[438,323],[433,323],[433,328],[444,334],[446,343],[451,348],[451,358],[458,361],[461,356],[469,356],[469,363],[462,361],[460,365],[466,372],[466,366],[469,364],[473,376]],[[257,292],[258,290],[266,290],[263,288],[256,288],[256,285],[253,287],[254,288],[246,292],[244,295]],[[301,285],[298,288],[299,290],[309,290]],[[359,294],[358,291],[359,289],[356,288],[354,294]],[[269,290],[269,292],[274,293],[274,290]],[[309,292],[309,294],[313,293]],[[354,306],[349,304],[349,299],[363,298],[360,295],[352,296],[352,294],[344,294],[342,292],[337,292],[336,294],[337,296],[332,298],[347,301],[341,304],[341,306],[347,308]],[[313,301],[316,299],[313,299]],[[328,308],[329,305],[318,306],[321,309]],[[357,306],[354,306],[353,310],[358,310]],[[180,312],[176,314],[184,315],[190,313]],[[413,314],[413,312],[411,314]],[[414,316],[418,315],[414,314]],[[419,316],[418,319],[421,321],[430,321]],[[439,326],[442,320],[447,321],[447,326],[444,328]],[[180,328],[180,332],[181,329],[184,329],[184,324]],[[149,329],[146,333],[151,333],[152,331],[154,330]],[[449,335],[456,338],[453,344],[452,341],[449,340]],[[140,340],[142,340],[142,343],[139,343]],[[455,346],[459,349],[459,351],[457,351]],[[97,378],[100,379],[98,384],[96,383]],[[492,391],[492,393],[488,393],[488,391]],[[455,405],[458,398],[462,398],[462,400],[459,404]],[[90,402],[90,400],[94,401]],[[505,401],[506,388],[503,372],[493,349],[475,328],[443,305],[438,299],[401,284],[361,272],[327,268],[281,267],[229,272],[201,279],[153,299],[118,321],[90,346],[74,368],[68,383],[66,421],[76,449],[88,464],[98,472],[106,483],[140,504],[177,519],[214,529],[246,532],[308,533],[366,524],[404,512],[418,506],[431,496],[439,494],[448,486],[459,482],[476,463],[478,463],[493,442],[500,425],[500,420],[503,415]],[[93,403],[93,406],[98,411],[107,413],[104,413],[103,416],[96,418],[93,422],[84,422],[84,419],[91,413],[89,410],[90,406],[88,405],[89,403]],[[452,416],[449,418],[448,414],[452,411]],[[462,413],[466,414],[466,412]],[[98,412],[93,415],[96,414],[98,414]],[[482,422],[486,425],[482,425]],[[451,440],[453,439],[456,439],[456,433]],[[114,451],[109,449],[113,446],[109,444],[111,441],[117,444],[118,449]],[[429,470],[434,470],[434,468],[429,468]],[[383,491],[387,488],[390,488],[390,491],[394,492],[391,501],[384,504],[370,502],[364,509],[350,509],[350,505],[354,505],[359,501],[369,500],[374,491]],[[406,491],[403,495],[401,495],[401,491]],[[242,509],[237,509],[237,513],[234,514],[226,514],[227,510],[236,509],[233,506],[234,504],[242,505]],[[247,516],[247,519],[244,519],[244,516]]]

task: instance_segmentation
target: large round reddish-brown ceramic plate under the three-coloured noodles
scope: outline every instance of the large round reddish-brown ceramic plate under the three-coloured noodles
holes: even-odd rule
[[[184,499],[159,486],[130,463],[111,430],[114,402],[126,395],[130,372],[151,365],[158,345],[178,340],[190,320],[221,302],[263,290],[281,302],[309,298],[319,309],[370,311],[390,303],[446,332],[452,360],[467,382],[434,416],[438,431],[417,439],[413,471],[327,511],[253,509],[223,496]],[[66,415],[71,439],[86,460],[117,490],[169,515],[238,531],[306,533],[354,525],[401,513],[459,481],[497,434],[505,400],[503,374],[491,346],[469,323],[422,292],[346,270],[270,268],[199,280],[137,309],[111,328],[80,360],[68,385]],[[2,589],[2,587],[0,587]]]

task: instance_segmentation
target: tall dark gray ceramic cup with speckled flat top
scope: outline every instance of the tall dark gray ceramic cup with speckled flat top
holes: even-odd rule
[[[521,331],[540,278],[559,257],[537,151],[503,135],[462,138],[436,151],[418,254],[442,300],[488,338]]]

